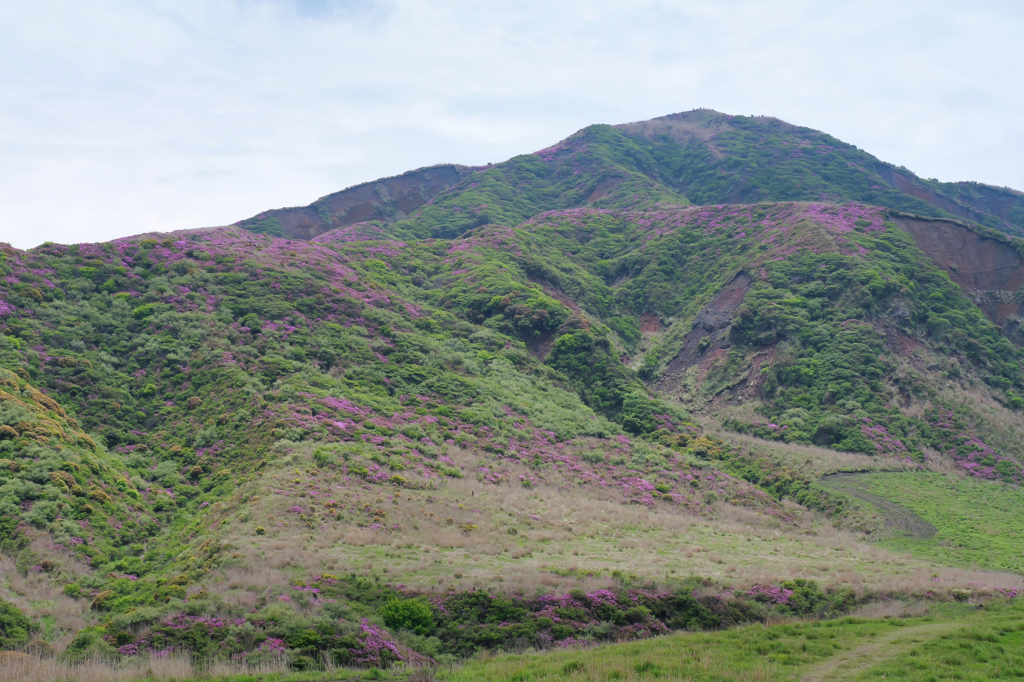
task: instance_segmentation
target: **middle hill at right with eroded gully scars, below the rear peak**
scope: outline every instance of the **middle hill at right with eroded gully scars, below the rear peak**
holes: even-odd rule
[[[624,415],[639,377],[690,409],[763,401],[760,419],[728,422],[762,438],[919,462],[930,450],[982,477],[1021,475],[1019,453],[987,444],[970,408],[937,399],[972,386],[1019,410],[1017,349],[881,209],[550,212],[446,253],[418,300],[534,344],[634,432],[657,429],[632,406]],[[421,268],[407,254],[396,265]],[[719,302],[733,282],[734,300]],[[908,367],[906,344],[944,371]],[[595,361],[613,356],[628,367]]]

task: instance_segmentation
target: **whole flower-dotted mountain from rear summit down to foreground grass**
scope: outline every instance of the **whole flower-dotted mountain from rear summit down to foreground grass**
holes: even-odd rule
[[[1017,590],[1017,197],[699,111],[4,247],[0,599],[304,669]]]

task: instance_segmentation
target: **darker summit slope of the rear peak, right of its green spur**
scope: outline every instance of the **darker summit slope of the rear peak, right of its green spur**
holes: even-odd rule
[[[1024,237],[1024,195],[918,178],[835,137],[770,117],[709,110],[616,126],[657,162],[658,179],[694,204],[855,201],[961,217]]]

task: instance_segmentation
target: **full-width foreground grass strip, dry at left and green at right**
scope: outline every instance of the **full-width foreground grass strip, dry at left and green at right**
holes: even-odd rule
[[[0,681],[1010,680],[1024,678],[1024,602],[996,601],[984,608],[939,604],[919,617],[756,625],[592,648],[483,654],[461,666],[432,671],[400,667],[388,671],[248,670],[227,662],[197,665],[180,656],[121,669],[109,664],[104,668],[98,660],[75,667],[55,662],[41,665],[38,659],[24,663],[16,667],[0,656]]]

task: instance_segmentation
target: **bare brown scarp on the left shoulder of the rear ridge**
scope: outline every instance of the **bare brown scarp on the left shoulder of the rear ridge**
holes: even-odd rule
[[[255,232],[311,240],[335,227],[366,220],[400,220],[455,185],[469,169],[430,166],[395,177],[357,184],[317,199],[309,206],[273,209],[237,223]]]

